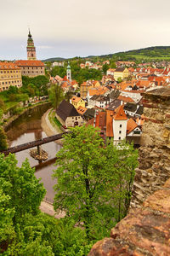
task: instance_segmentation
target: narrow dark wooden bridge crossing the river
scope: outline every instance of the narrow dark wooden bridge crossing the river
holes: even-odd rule
[[[67,133],[70,133],[70,132],[71,131],[66,131],[66,132],[59,133],[59,134],[56,134],[56,135],[53,135],[53,136],[50,136],[50,137],[44,137],[44,138],[39,139],[37,141],[33,141],[33,142],[30,142],[30,143],[24,143],[24,144],[21,144],[21,145],[12,147],[12,148],[8,148],[6,150],[0,151],[0,153],[8,155],[9,153],[17,153],[17,152],[20,152],[22,150],[26,150],[28,148],[39,147],[42,144],[57,141],[57,140],[61,139],[63,137],[63,135],[65,135]]]

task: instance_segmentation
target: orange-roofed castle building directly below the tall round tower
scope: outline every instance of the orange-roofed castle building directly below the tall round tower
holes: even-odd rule
[[[15,61],[15,64],[20,67],[22,76],[37,77],[45,75],[45,66],[42,61]]]

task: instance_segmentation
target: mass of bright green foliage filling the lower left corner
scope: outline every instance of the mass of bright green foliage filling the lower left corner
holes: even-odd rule
[[[45,189],[26,160],[0,154],[0,253],[2,255],[87,255],[93,242],[71,218],[55,219],[38,209]]]

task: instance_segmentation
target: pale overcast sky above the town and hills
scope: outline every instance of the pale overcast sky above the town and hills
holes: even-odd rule
[[[104,55],[170,45],[169,0],[0,0],[0,59]]]

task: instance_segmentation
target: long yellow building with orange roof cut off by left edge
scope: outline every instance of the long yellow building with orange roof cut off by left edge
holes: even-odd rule
[[[21,69],[13,62],[0,62],[0,91],[10,86],[22,86]]]

